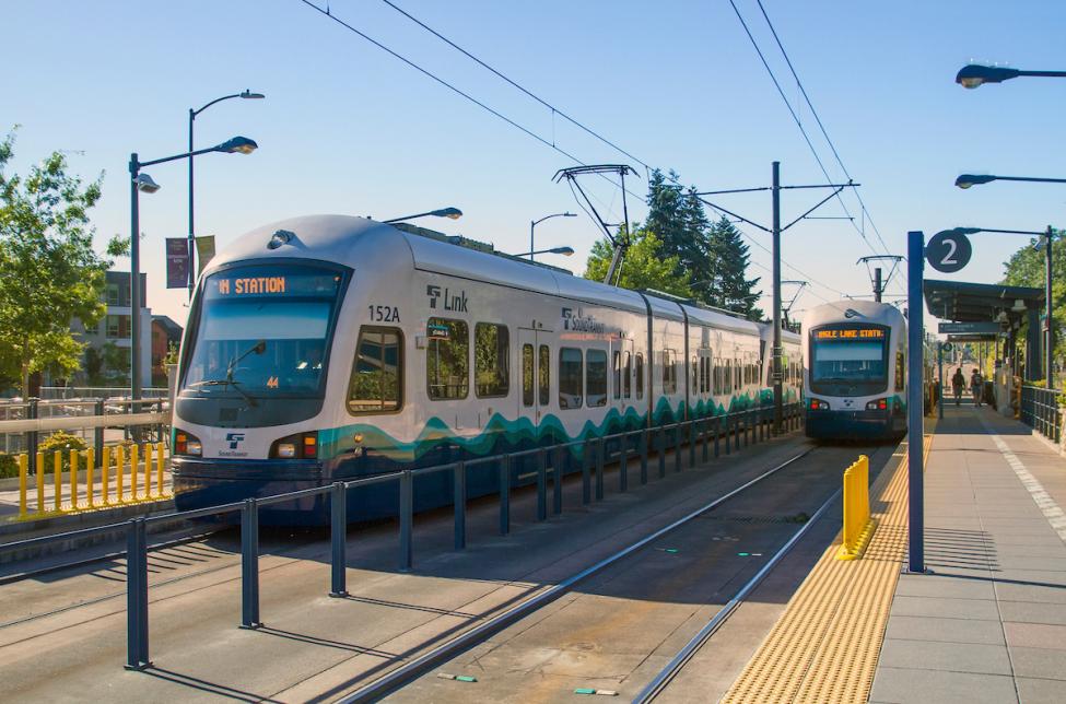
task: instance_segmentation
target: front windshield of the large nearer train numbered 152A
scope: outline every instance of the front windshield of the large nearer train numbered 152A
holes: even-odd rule
[[[261,265],[208,277],[183,392],[307,398],[325,386],[342,277],[302,265]]]

